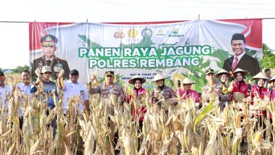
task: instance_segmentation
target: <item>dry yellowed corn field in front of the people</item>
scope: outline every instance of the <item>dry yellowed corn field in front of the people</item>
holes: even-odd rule
[[[14,85],[19,80],[8,80]],[[127,87],[125,86],[126,90]],[[124,91],[127,92],[127,91]],[[38,92],[43,93],[43,92]],[[54,94],[54,93],[53,93]],[[47,96],[48,94],[45,94]],[[99,95],[89,96],[91,112],[78,112],[78,96],[69,99],[67,114],[63,115],[63,93],[54,96],[54,107],[47,113],[47,104],[39,98],[30,99],[17,90],[8,96],[8,112],[1,105],[0,155],[3,154],[275,154],[274,123],[275,103],[269,99],[251,99],[243,103],[228,104],[223,112],[219,101],[210,102],[197,109],[192,99],[178,98],[168,112],[151,104],[150,93],[141,101],[119,104],[115,96],[107,100]],[[23,110],[23,127],[19,127],[19,105]],[[248,106],[249,105],[249,106]],[[132,106],[137,110],[146,106],[142,129],[139,117],[133,120]],[[255,114],[267,111],[265,127],[259,125]],[[51,122],[56,118],[56,131]],[[54,134],[56,132],[56,134]],[[114,143],[115,133],[118,143]],[[54,135],[54,136],[53,136]],[[138,144],[140,141],[140,146]],[[244,141],[245,145],[241,145]]]

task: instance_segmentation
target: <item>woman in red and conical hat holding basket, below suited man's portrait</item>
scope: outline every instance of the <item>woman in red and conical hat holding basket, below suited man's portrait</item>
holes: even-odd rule
[[[248,72],[237,68],[233,72],[233,76],[236,81],[233,82],[232,96],[230,101],[234,100],[236,102],[243,102],[243,99],[248,96],[248,84],[245,83],[244,78]]]

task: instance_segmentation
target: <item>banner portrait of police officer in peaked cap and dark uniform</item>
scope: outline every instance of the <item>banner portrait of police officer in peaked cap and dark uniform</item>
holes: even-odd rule
[[[32,75],[36,76],[34,71],[36,68],[43,68],[43,66],[50,66],[52,70],[52,78],[57,79],[58,73],[63,69],[65,71],[64,78],[69,79],[69,65],[67,61],[60,59],[54,53],[56,52],[56,43],[58,39],[52,34],[47,34],[41,37],[40,42],[42,44],[43,56],[39,59],[34,59],[32,68]]]

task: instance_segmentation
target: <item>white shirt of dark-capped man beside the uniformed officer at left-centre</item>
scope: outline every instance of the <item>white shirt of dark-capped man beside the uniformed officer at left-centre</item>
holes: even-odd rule
[[[73,83],[72,81],[68,80],[64,82],[65,87],[63,88],[63,114],[66,114],[67,111],[67,101],[74,97],[78,97],[81,94],[80,99],[83,101],[88,100],[89,96],[87,94],[87,90],[83,83]],[[78,103],[79,112],[83,110],[83,103]]]

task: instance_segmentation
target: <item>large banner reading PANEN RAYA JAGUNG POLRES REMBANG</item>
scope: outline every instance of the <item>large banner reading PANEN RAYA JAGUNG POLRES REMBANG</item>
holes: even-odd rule
[[[152,23],[30,23],[32,71],[49,65],[56,78],[61,69],[80,73],[89,82],[91,72],[103,79],[115,71],[117,81],[128,83],[135,74],[149,85],[155,74],[168,82],[190,77],[199,90],[206,83],[205,71],[231,68],[234,51],[232,35],[245,36],[244,59],[239,66],[254,73],[262,63],[262,19],[169,21]],[[48,35],[51,34],[51,35]],[[240,62],[242,59],[240,60]],[[229,62],[229,63],[228,63]],[[228,65],[228,66],[227,66]],[[255,67],[253,65],[258,65]],[[250,68],[252,68],[250,70]],[[33,72],[34,74],[34,72]]]

